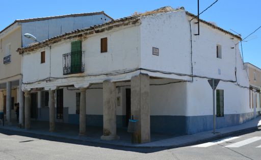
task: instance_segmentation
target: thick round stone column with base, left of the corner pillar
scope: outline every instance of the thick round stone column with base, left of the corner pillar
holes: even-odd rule
[[[100,139],[119,139],[116,135],[116,84],[110,81],[103,81],[103,135]]]

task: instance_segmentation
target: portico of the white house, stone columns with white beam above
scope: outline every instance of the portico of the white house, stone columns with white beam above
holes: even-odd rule
[[[131,91],[130,104],[131,111],[129,116],[127,116],[127,108],[124,111],[126,116],[122,116],[121,121],[125,121],[127,126],[128,119],[131,116],[137,120],[137,130],[134,133],[135,143],[146,143],[150,142],[150,86],[151,85],[161,85],[166,83],[176,83],[179,81],[184,81],[180,79],[171,79],[163,77],[150,76],[148,73],[142,73],[136,71],[133,73],[126,73],[124,75],[114,75],[114,76],[103,76],[102,78],[89,77],[88,81],[86,77],[68,77],[65,79],[53,79],[49,82],[44,81],[38,84],[24,84],[23,89],[25,92],[25,128],[30,129],[30,102],[29,94],[30,90],[34,88],[41,88],[48,91],[48,106],[49,106],[49,131],[56,131],[56,91],[61,88],[72,87],[74,90],[80,91],[80,108],[79,108],[79,135],[86,135],[88,128],[86,128],[88,123],[88,90],[102,89],[102,133],[100,139],[102,140],[117,140],[120,137],[117,135],[117,123],[119,121],[117,114],[117,106],[119,103],[123,103],[123,98],[118,96],[120,88],[126,88]],[[98,79],[98,80],[97,80]],[[77,83],[75,83],[77,82]],[[64,83],[61,86],[55,84]],[[73,86],[72,86],[73,85]],[[97,88],[99,86],[99,88]],[[126,92],[124,92],[126,96]],[[70,96],[71,98],[71,96]],[[126,99],[124,98],[124,102]],[[70,110],[70,109],[69,109]],[[123,112],[123,111],[121,111]],[[122,124],[123,126],[123,124]]]

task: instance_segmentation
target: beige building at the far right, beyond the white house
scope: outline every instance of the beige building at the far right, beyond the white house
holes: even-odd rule
[[[249,77],[249,108],[256,117],[261,110],[261,69],[251,63],[244,63],[244,66]]]

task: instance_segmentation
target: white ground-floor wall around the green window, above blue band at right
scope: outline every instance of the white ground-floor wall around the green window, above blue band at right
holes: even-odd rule
[[[213,92],[207,80],[195,78],[193,83],[187,83],[187,85],[187,116],[213,115]],[[217,89],[224,90],[224,114],[251,112],[248,89],[240,88],[229,82],[220,82]]]

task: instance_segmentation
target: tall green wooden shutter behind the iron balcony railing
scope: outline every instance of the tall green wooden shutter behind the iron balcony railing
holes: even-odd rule
[[[82,41],[71,42],[71,73],[79,73],[82,69]]]

